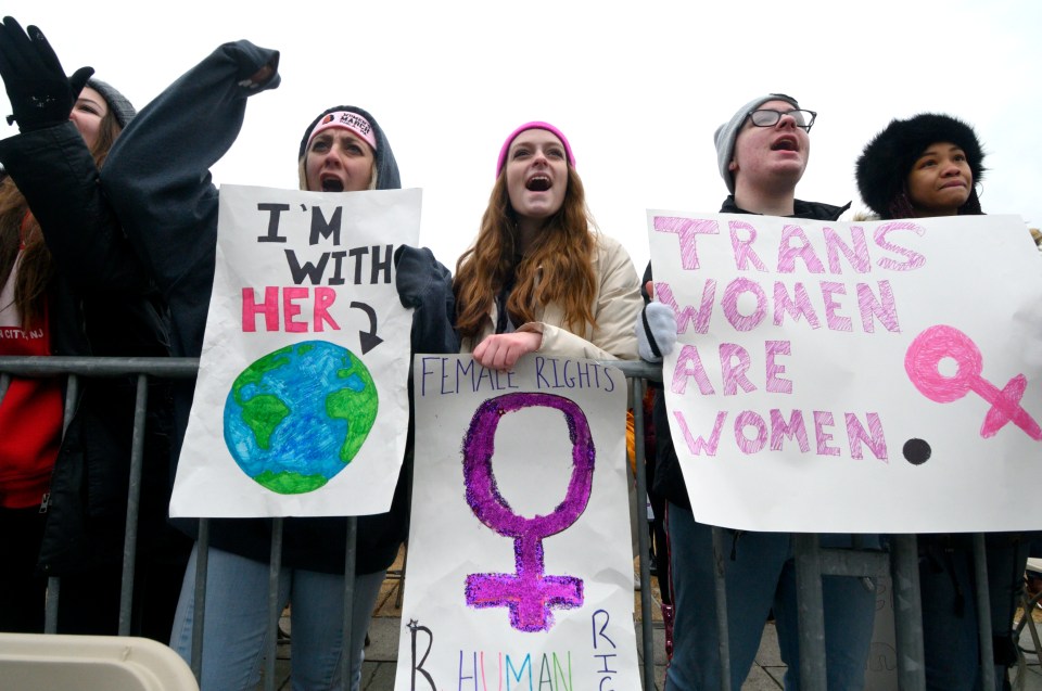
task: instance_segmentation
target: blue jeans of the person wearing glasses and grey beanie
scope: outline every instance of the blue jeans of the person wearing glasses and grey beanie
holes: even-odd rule
[[[720,689],[720,639],[713,579],[712,528],[674,503],[666,512],[673,576],[673,660],[669,691]],[[799,689],[796,568],[788,533],[734,533],[725,545],[730,688],[749,675],[760,638],[773,609],[782,660],[788,665],[785,688]],[[863,689],[872,642],[876,596],[861,578],[825,576],[825,664],[829,691]]]

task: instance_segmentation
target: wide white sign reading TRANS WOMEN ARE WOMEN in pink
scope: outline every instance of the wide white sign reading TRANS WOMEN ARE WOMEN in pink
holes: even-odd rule
[[[1019,218],[648,212],[695,516],[809,533],[1042,527],[1042,259]],[[664,431],[662,431],[664,432]]]

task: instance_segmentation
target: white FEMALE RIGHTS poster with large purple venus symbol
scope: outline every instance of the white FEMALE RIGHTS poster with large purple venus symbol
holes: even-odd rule
[[[416,356],[395,689],[639,689],[626,380],[525,356]]]

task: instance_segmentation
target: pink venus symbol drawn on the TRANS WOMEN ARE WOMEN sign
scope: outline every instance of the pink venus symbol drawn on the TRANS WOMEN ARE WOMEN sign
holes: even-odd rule
[[[956,372],[945,376],[940,372],[944,359],[954,360]],[[939,324],[925,330],[912,342],[904,356],[904,370],[924,396],[939,404],[958,400],[974,392],[991,408],[980,426],[980,436],[994,436],[1007,422],[1024,430],[1032,439],[1042,439],[1042,428],[1020,406],[1028,386],[1024,374],[1017,374],[1001,389],[981,376],[984,360],[980,348],[965,333],[953,327]]]

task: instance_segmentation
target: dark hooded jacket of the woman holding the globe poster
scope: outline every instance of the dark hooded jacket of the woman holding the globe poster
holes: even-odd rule
[[[278,59],[277,51],[249,41],[225,43],[138,114],[116,142],[102,172],[102,183],[130,241],[170,306],[176,356],[200,356],[209,309],[218,191],[208,170],[238,137],[246,98],[279,85],[277,72],[264,85],[250,85],[250,77],[265,65],[277,68]],[[358,111],[350,106],[340,110]],[[379,189],[401,187],[386,136],[368,113],[361,113],[372,125],[378,142]],[[205,127],[200,127],[200,123],[205,123]],[[429,249],[403,248],[395,261],[402,304],[415,309],[414,353],[458,353],[459,342],[452,328],[454,298],[448,270]],[[175,393],[175,457],[188,424],[194,382]],[[358,519],[358,574],[390,566],[405,539],[411,458],[410,423],[391,511]],[[185,529],[192,533],[194,524],[185,522]],[[270,520],[220,519],[209,525],[213,546],[268,561]],[[283,522],[284,566],[343,573],[345,546],[344,519],[295,517]]]

